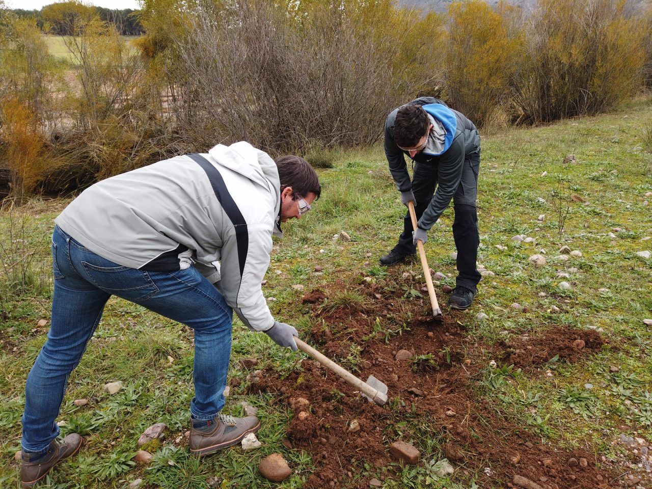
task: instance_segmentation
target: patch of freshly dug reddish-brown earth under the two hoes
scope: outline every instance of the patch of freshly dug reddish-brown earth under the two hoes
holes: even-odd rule
[[[343,288],[344,284],[333,292]],[[535,372],[556,355],[572,362],[600,349],[604,340],[599,333],[558,327],[532,338],[484,346],[466,333],[451,312],[437,325],[428,321],[428,316],[419,317],[417,310],[424,310],[419,301],[402,299],[400,292],[397,297],[387,297],[373,285],[359,292],[369,302],[351,308],[330,308],[329,291],[304,296],[304,304],[316,319],[314,324],[319,325],[310,341],[340,362],[351,355],[352,344],[360,348],[359,358],[349,357],[349,364],[357,363],[360,378],[373,374],[387,384],[390,401],[386,406],[361,398],[348,383],[308,360],[301,363],[301,371],[286,379],[268,372],[264,381],[254,379],[249,387],[252,392],[278,393],[279,402],[293,406],[286,446],[309,452],[316,466],[304,488],[368,488],[368,479],[359,475],[364,462],[372,467],[369,477],[393,477],[400,466],[392,460],[389,445],[397,439],[414,440],[419,448],[420,436],[436,439],[442,453],[422,452],[419,463],[448,458],[461,479],[467,468],[484,474],[477,481],[483,487],[513,487],[514,475],[544,489],[615,487],[608,483],[614,479],[612,474],[597,466],[595,454],[541,443],[474,393],[480,370],[490,359]],[[407,307],[413,308],[414,314]],[[380,314],[412,319],[386,342],[384,333],[374,334],[375,318]],[[578,339],[584,344],[576,342]],[[413,357],[396,360],[401,349]],[[305,398],[310,405],[296,398]],[[359,430],[351,429],[354,420]],[[421,424],[421,429],[409,432],[401,426],[400,437],[396,424],[406,420],[411,426]]]

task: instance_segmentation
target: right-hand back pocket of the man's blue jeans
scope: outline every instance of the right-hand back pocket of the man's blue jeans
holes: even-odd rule
[[[102,289],[128,301],[145,301],[158,293],[158,287],[142,270],[129,267],[98,267],[82,261],[91,282]]]

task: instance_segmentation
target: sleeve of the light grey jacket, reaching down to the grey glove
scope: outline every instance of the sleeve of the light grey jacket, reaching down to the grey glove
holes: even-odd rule
[[[222,245],[220,288],[226,303],[244,325],[252,331],[266,331],[274,318],[263,296],[261,284],[272,252],[272,235],[268,224],[246,225],[246,257],[241,271],[240,253],[244,252],[243,236],[230,231]]]

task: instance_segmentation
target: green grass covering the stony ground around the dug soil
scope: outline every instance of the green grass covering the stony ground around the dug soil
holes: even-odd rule
[[[479,398],[492,400],[488,406],[500,409],[501,415],[527,426],[542,439],[561,446],[590,445],[608,458],[621,456],[611,443],[621,432],[637,432],[637,436],[652,439],[652,331],[642,322],[652,316],[652,261],[636,255],[652,249],[652,240],[646,239],[652,236],[652,197],[645,196],[652,192],[652,158],[640,149],[649,146],[651,121],[651,101],[640,100],[606,115],[511,129],[482,141],[479,261],[495,276],[481,282],[477,301],[465,316],[468,333],[492,344],[556,325],[571,325],[600,329],[611,346],[581,363],[551,362],[546,375],[526,374],[509,365],[487,366],[477,384]],[[564,163],[571,153],[576,155],[576,163]],[[264,290],[268,298],[274,298],[270,301],[273,314],[300,331],[312,325],[293,284],[304,284],[306,291],[318,286],[334,288],[336,293],[323,305],[329,310],[349,304],[364,308],[364,297],[346,289],[346,284],[361,284],[365,277],[383,284],[401,276],[387,274],[377,265],[378,257],[393,246],[405,212],[381,147],[342,151],[332,161],[333,168],[319,170],[323,197],[299,222],[286,225],[286,238],[274,244],[266,277]],[[569,203],[561,235],[550,202],[559,177],[569,182],[572,194],[586,200]],[[34,201],[20,215],[0,215],[5,244],[11,239],[10,224],[14,228],[20,224],[18,228],[24,230],[23,241],[3,249],[11,254],[29,253],[32,277],[48,274],[52,220],[66,203]],[[539,222],[541,214],[545,219]],[[435,271],[454,276],[451,225],[449,209],[430,232],[426,252]],[[614,228],[623,231],[615,233]],[[346,231],[351,241],[333,239],[340,231]],[[612,232],[615,237],[609,235]],[[516,234],[535,241],[512,241]],[[556,259],[564,244],[580,250],[582,257]],[[497,245],[506,249],[499,250]],[[541,250],[548,263],[534,267],[528,257]],[[313,272],[316,265],[323,267],[323,273]],[[563,291],[556,274],[569,268],[577,271],[563,279],[571,284]],[[419,262],[400,265],[400,272],[409,271],[421,273]],[[414,283],[410,276],[398,284],[405,291],[404,301],[417,297]],[[441,283],[452,282],[447,278]],[[47,333],[47,326],[38,327],[37,321],[49,317],[51,284],[37,287],[33,279],[30,284],[20,294],[1,284],[5,288],[0,300],[3,487],[16,484],[17,466],[12,456],[20,446],[25,378]],[[12,287],[20,291],[16,284]],[[539,297],[541,292],[546,295]],[[514,310],[510,307],[514,302],[527,310]],[[488,319],[477,320],[479,312]],[[400,304],[391,313],[392,319],[380,317],[380,311],[374,314],[379,316],[374,328],[387,338],[400,334],[406,324]],[[246,383],[247,372],[237,366],[245,357],[258,358],[261,366],[273,365],[280,376],[295,368],[295,354],[237,324],[230,379]],[[418,364],[427,368],[431,360],[419,358]],[[358,361],[359,350],[352,345],[346,363],[356,368]],[[617,372],[610,366],[617,366]],[[102,391],[104,383],[115,380],[125,381],[121,393],[110,396]],[[211,477],[224,488],[301,487],[314,462],[281,443],[288,409],[272,402],[269,394],[244,396],[238,392],[227,398],[226,412],[241,415],[239,403],[243,400],[258,407],[263,447],[247,454],[232,448],[201,461],[188,456],[175,439],[187,429],[192,334],[173,321],[113,298],[70,378],[59,418],[67,422],[66,430],[84,432],[87,446],[74,462],[59,466],[46,487],[124,487],[138,477],[150,486],[170,488],[203,488]],[[72,404],[76,398],[89,399],[89,406],[77,408]],[[155,461],[150,467],[134,466],[131,456],[138,449],[136,440],[155,422],[168,424],[168,436],[158,447],[151,447]],[[468,487],[459,480],[433,475],[443,456],[428,420],[406,417],[405,424],[395,429],[415,434],[429,456],[424,456],[421,466],[406,467],[398,478],[387,479],[386,488],[426,484]],[[281,452],[293,467],[293,476],[282,484],[271,484],[257,474],[259,460],[272,452]]]

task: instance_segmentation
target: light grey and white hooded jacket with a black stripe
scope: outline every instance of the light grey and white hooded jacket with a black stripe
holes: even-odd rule
[[[274,160],[249,143],[216,145],[100,181],[55,219],[103,258],[144,271],[194,265],[220,282],[226,303],[254,331],[274,325],[261,282],[272,235],[282,235]]]

